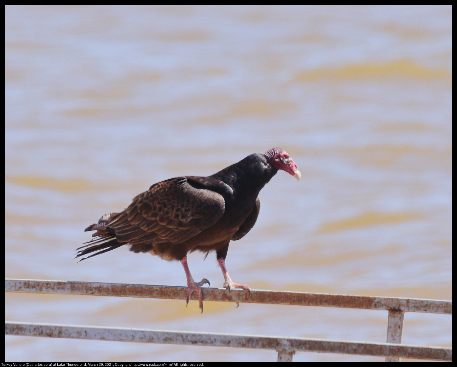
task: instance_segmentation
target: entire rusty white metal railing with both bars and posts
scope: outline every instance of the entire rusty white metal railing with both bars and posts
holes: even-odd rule
[[[5,292],[186,299],[187,287],[71,282],[58,280],[5,279]],[[404,312],[427,312],[451,315],[452,301],[352,296],[343,294],[277,292],[258,289],[251,289],[250,294],[248,294],[244,290],[234,289],[229,292],[225,288],[202,288],[202,295],[203,299],[206,301],[293,304],[303,306],[388,310],[387,343],[18,323],[9,321],[5,322],[5,334],[270,349],[278,352],[278,362],[292,362],[292,356],[295,354],[295,351],[382,356],[386,357],[386,362],[399,362],[399,358],[402,357],[436,361],[452,361],[452,348],[401,344]],[[191,299],[197,299],[195,293],[192,295]]]

